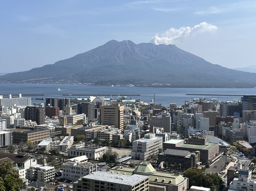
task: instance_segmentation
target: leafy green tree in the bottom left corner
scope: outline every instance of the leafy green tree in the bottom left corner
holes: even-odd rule
[[[1,191],[19,191],[25,189],[26,184],[13,169],[11,162],[0,164],[0,190]]]

